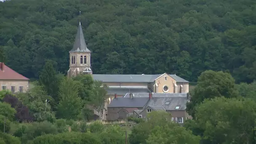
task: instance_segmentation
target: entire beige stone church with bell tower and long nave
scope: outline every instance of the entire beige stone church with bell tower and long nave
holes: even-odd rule
[[[114,96],[121,97],[126,93],[188,93],[189,81],[177,75],[105,75],[93,74],[91,68],[91,51],[87,48],[81,22],[77,29],[75,43],[69,51],[68,77],[79,74],[92,75],[94,80],[100,80],[108,86],[110,101]]]

